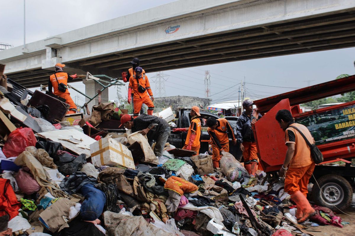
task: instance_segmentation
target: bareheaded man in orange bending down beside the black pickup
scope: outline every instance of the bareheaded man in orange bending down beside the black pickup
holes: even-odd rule
[[[233,144],[237,143],[236,138],[234,137],[234,132],[232,127],[230,127],[228,120],[224,118],[215,119],[209,117],[207,119],[207,132],[211,137],[209,143],[212,146],[212,161],[213,167],[219,168],[219,160],[221,159],[221,152],[229,152],[229,138],[230,134]]]

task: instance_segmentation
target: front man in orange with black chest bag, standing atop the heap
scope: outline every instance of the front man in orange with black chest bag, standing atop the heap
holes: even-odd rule
[[[135,72],[136,74],[130,77],[130,84],[128,85],[128,88],[131,88],[134,91],[133,117],[137,117],[139,115],[139,111],[141,110],[143,103],[148,106],[148,115],[153,115],[154,97],[148,77],[145,74],[142,74],[142,67],[136,67]],[[149,96],[151,96],[151,99],[149,98],[147,92]]]

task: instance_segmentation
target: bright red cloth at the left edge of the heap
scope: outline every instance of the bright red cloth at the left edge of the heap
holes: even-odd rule
[[[9,214],[10,220],[18,215],[21,203],[17,201],[9,179],[0,179],[0,216]]]

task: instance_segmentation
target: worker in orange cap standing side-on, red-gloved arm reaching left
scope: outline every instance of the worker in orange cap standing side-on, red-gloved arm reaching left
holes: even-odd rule
[[[172,131],[184,131],[187,132],[185,146],[182,149],[195,151],[198,155],[200,151],[200,136],[201,136],[201,120],[200,120],[200,108],[193,106],[190,110],[191,123],[187,128],[175,128]]]

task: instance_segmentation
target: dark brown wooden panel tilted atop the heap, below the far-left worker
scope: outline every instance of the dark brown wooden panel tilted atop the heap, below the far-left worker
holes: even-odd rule
[[[47,117],[49,122],[54,120],[58,122],[62,121],[70,107],[69,104],[36,90],[27,106],[37,108],[40,105],[47,105],[49,107],[49,114]]]

